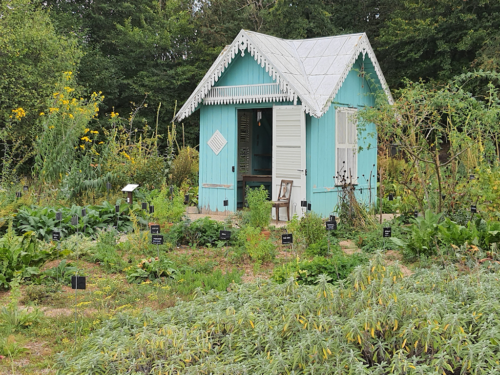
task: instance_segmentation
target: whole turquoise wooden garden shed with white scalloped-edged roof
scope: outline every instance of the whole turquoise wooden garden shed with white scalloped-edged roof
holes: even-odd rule
[[[236,210],[246,184],[268,185],[276,199],[282,179],[293,181],[299,216],[303,200],[322,216],[334,211],[344,183],[376,196],[374,125],[356,126],[376,89],[392,102],[364,33],[286,40],[241,30],[175,116],[199,109],[201,212]]]

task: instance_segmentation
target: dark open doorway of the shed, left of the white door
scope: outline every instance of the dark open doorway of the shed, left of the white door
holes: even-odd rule
[[[264,185],[271,198],[272,108],[238,109],[237,207],[244,205],[244,186]]]

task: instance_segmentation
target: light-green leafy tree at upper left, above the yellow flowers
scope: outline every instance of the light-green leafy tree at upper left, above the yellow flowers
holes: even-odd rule
[[[12,138],[26,135],[63,71],[81,57],[73,35],[59,34],[47,10],[31,0],[0,2],[0,116],[23,108]]]

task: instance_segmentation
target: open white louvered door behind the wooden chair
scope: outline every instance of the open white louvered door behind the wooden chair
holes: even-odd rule
[[[294,211],[301,216],[300,201],[305,200],[305,112],[300,105],[272,107],[272,200],[277,199],[282,179],[293,180],[290,218]],[[286,219],[286,208],[280,209],[279,217]]]

